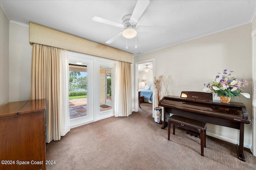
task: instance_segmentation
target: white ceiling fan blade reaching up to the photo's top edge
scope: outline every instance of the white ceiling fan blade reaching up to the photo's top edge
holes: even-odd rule
[[[130,19],[130,23],[136,24],[140,17],[142,16],[143,12],[148,7],[148,4],[150,3],[149,0],[138,0]]]

